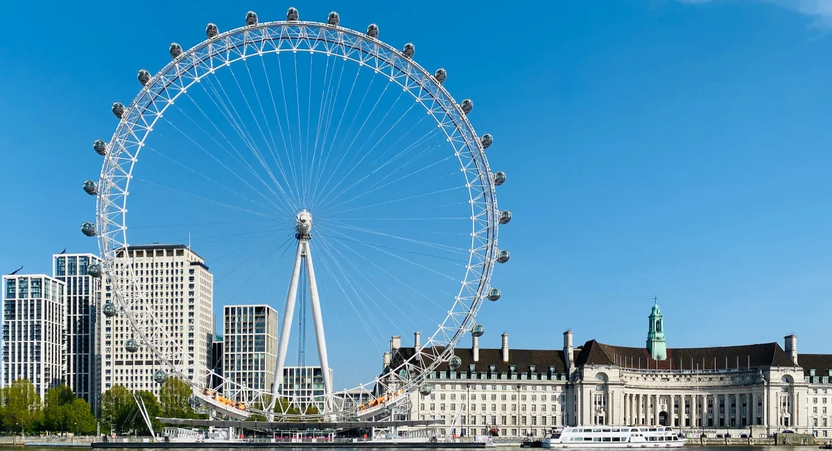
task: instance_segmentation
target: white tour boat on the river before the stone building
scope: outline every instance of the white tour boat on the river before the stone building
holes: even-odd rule
[[[681,431],[665,426],[563,428],[546,439],[543,448],[680,448]]]

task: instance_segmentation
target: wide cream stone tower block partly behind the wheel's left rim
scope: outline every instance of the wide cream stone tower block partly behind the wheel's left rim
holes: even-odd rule
[[[214,283],[205,260],[185,245],[134,245],[117,252],[111,273],[115,277],[134,278],[131,313],[136,317],[142,311],[152,310],[156,330],[166,337],[166,343],[156,342],[156,347],[168,356],[176,354],[176,349],[185,349],[186,354],[172,357],[172,363],[186,377],[206,384],[205,369],[210,364],[214,332]],[[115,302],[114,296],[107,284],[104,303]],[[150,390],[158,395],[160,385],[153,375],[157,369],[168,371],[168,365],[156,359],[141,338],[132,333],[124,313],[101,315],[99,319],[103,337],[102,391],[120,384],[131,391]],[[135,352],[125,348],[131,339],[138,345]]]

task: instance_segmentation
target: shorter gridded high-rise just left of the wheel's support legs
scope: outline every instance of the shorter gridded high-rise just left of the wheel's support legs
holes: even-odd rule
[[[275,382],[277,311],[268,305],[225,305],[223,314],[223,393],[247,401],[250,394],[240,386],[268,391]]]

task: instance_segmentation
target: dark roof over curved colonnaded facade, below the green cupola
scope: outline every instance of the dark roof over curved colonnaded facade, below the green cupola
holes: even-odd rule
[[[800,359],[798,359],[800,362]],[[642,369],[735,369],[760,366],[795,366],[778,343],[717,346],[712,348],[670,348],[667,359],[650,358],[646,348],[598,343],[592,339],[577,356],[577,366],[620,364]]]

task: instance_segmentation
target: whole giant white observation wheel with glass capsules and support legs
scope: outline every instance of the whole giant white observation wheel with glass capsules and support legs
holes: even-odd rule
[[[302,21],[294,7],[277,22],[248,12],[227,32],[209,23],[206,40],[169,51],[161,71],[138,72],[132,102],[112,105],[116,131],[93,144],[101,175],[83,186],[97,217],[82,232],[103,261],[89,272],[111,286],[103,314],[129,325],[122,352],[152,356],[157,382],[181,378],[237,419],[369,418],[426,393],[438,364],[457,369],[454,346],[483,335],[478,310],[501,295],[491,276],[510,257],[497,238],[511,213],[497,206],[506,175],[488,165],[493,137],[474,130],[472,101],[450,95],[451,75],[418,65],[412,43],[380,41],[375,24]],[[274,384],[193,359],[183,326],[162,315],[130,250],[186,236],[214,270],[216,302],[280,311]],[[280,386],[284,368],[312,362],[307,315],[323,395]],[[382,376],[347,368],[413,330],[425,342]],[[336,387],[330,368],[356,383]],[[355,385],[369,399],[350,402]]]

